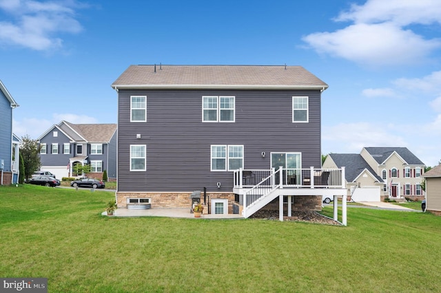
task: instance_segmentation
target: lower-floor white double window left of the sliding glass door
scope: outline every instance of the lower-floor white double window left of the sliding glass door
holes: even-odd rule
[[[243,168],[242,145],[212,145],[212,171],[234,171]]]

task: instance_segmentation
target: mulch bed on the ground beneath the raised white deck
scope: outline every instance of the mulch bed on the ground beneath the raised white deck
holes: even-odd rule
[[[283,217],[283,221],[302,221],[314,224],[341,225],[338,221],[324,217],[313,210],[293,211],[292,217]],[[267,219],[278,221],[278,210],[258,210],[250,219]]]

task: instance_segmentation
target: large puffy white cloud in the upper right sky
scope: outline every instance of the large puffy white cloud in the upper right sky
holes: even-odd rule
[[[303,41],[317,52],[370,66],[421,63],[441,48],[440,39],[425,39],[405,28],[410,24],[441,23],[438,1],[369,0],[363,6],[352,6],[336,21],[353,24],[335,32],[309,34]]]

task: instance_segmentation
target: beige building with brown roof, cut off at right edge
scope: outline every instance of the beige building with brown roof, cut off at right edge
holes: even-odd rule
[[[441,164],[433,167],[424,175],[426,180],[426,210],[441,215]]]

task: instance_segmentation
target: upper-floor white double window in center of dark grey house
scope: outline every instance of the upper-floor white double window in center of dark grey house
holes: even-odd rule
[[[203,96],[202,121],[234,122],[235,99],[234,96]]]

